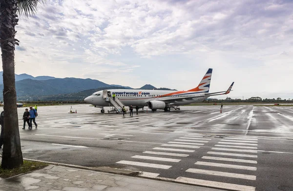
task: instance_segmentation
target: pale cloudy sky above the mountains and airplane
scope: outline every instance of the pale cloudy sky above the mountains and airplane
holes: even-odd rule
[[[212,68],[210,92],[293,99],[292,0],[47,0],[17,31],[17,74],[188,90]]]

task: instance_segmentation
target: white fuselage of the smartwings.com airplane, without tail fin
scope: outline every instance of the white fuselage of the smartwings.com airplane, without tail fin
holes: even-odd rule
[[[105,91],[107,94],[105,95]],[[103,95],[104,92],[104,95]],[[204,96],[205,93],[196,93],[188,91],[168,91],[168,90],[128,90],[128,89],[117,89],[117,90],[102,90],[95,92],[92,96],[88,96],[84,99],[85,102],[95,106],[107,107],[109,102],[106,101],[106,96],[112,96],[113,93],[116,95],[116,99],[119,99],[126,106],[147,106],[147,103],[152,100],[164,100],[165,103],[170,106],[180,106],[191,104],[195,102],[201,102],[209,96]],[[201,97],[194,97],[201,96]],[[166,100],[172,98],[180,98],[177,100]],[[192,98],[193,97],[193,98]]]

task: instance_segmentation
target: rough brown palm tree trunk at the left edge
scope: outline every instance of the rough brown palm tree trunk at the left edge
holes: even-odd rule
[[[16,107],[14,50],[18,22],[17,0],[0,2],[0,47],[3,67],[4,139],[1,167],[13,169],[23,164]]]

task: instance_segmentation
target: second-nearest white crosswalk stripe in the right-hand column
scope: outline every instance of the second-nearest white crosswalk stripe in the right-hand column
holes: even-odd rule
[[[203,170],[203,169],[188,169],[186,172],[208,174],[208,175],[214,175],[214,176],[226,176],[226,177],[230,177],[230,178],[241,178],[241,179],[247,179],[247,180],[256,180],[256,176],[248,175],[248,174],[209,171],[209,170]]]

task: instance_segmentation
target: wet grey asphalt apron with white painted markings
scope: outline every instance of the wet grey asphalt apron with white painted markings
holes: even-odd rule
[[[77,114],[68,114],[70,106],[38,107],[37,130],[21,130],[19,109],[25,158],[222,189],[293,191],[293,107],[145,108],[131,117],[73,107]]]

